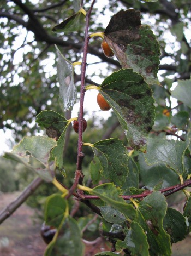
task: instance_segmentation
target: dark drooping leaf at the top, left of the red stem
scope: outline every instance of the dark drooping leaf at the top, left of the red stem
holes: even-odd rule
[[[79,10],[68,19],[53,27],[52,31],[62,30],[61,32],[75,32],[79,31],[83,22],[85,23],[84,14]]]

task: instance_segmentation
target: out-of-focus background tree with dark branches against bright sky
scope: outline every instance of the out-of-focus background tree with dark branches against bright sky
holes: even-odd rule
[[[83,49],[83,24],[79,26],[80,33],[52,32],[57,22],[74,14],[75,6],[70,8],[70,4],[70,1],[33,4],[32,1],[23,3],[19,0],[1,3],[1,128],[13,130],[16,139],[38,131],[35,116],[47,106],[61,111],[57,104],[59,85],[54,45],[73,62],[81,60]],[[103,5],[100,15],[94,8],[89,32],[104,31],[102,21],[108,8],[110,16],[122,8],[140,10],[142,19],[146,19],[157,35],[162,52],[159,80],[164,87],[153,90],[158,90],[155,99],[159,112],[166,108],[166,104],[167,108],[171,107],[169,88],[172,83],[190,77],[189,1],[109,1],[108,5]],[[109,21],[109,15],[107,19]],[[88,48],[90,75],[86,79],[94,82],[99,79],[97,75],[103,76],[100,62],[103,62],[102,67],[109,67],[108,74],[120,68],[116,60],[105,57],[100,42],[100,39],[92,40]],[[94,62],[97,63],[96,73],[91,72]],[[75,79],[79,85],[80,76],[76,75]],[[92,81],[87,82],[93,84]]]

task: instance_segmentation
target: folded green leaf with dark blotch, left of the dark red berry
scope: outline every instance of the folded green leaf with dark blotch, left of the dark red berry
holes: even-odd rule
[[[62,115],[59,115],[55,111],[45,110],[39,113],[36,121],[39,126],[46,128],[46,132],[49,134],[57,134],[59,139],[57,141],[57,146],[53,148],[51,155],[55,159],[56,166],[60,170],[63,170],[63,150],[65,143],[65,133],[70,124]]]

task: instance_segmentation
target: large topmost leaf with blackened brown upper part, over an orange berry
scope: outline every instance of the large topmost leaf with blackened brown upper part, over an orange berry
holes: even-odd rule
[[[159,84],[159,44],[149,26],[141,26],[140,12],[121,10],[112,16],[104,39],[123,68],[140,73],[148,84]]]

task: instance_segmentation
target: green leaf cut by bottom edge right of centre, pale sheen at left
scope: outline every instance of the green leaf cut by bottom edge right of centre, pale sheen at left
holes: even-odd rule
[[[149,255],[147,236],[139,223],[134,221],[130,224],[130,229],[127,231],[124,241],[118,240],[117,246],[129,249],[130,255]]]

